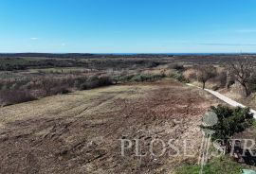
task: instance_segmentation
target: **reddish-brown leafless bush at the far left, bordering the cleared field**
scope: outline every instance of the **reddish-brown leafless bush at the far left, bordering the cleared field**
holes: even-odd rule
[[[4,106],[35,100],[26,90],[5,90],[0,92],[0,100]]]

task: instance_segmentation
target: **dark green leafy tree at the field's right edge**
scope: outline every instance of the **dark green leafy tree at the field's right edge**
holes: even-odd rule
[[[234,108],[219,105],[210,107],[211,112],[216,113],[218,122],[213,126],[201,125],[202,129],[213,130],[212,140],[222,140],[229,152],[229,139],[235,134],[247,130],[253,125],[253,113],[249,108]]]

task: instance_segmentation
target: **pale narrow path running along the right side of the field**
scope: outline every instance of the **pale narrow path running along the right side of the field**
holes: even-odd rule
[[[193,86],[193,87],[196,87],[196,88],[200,88],[198,86],[195,86],[195,85],[192,85],[192,84],[189,84],[189,86]],[[202,89],[202,88],[200,88]],[[227,96],[224,96],[224,95],[221,95],[220,93],[216,92],[216,91],[212,91],[210,89],[205,89],[205,91],[209,92],[211,95],[213,96],[216,96],[218,97],[219,99],[221,99],[222,101],[228,103],[230,106],[233,106],[233,107],[242,107],[242,108],[246,108],[247,106],[241,104],[241,103],[238,103],[234,100],[232,100],[231,98],[227,97]],[[251,113],[254,114],[254,118],[256,119],[256,111],[255,110],[250,110]]]

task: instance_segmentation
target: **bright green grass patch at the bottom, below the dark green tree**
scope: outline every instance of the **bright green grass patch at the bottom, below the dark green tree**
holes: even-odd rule
[[[206,174],[239,174],[243,165],[233,162],[229,157],[223,156],[210,160],[209,164],[204,167]],[[176,169],[176,174],[198,174],[200,165],[184,165]]]

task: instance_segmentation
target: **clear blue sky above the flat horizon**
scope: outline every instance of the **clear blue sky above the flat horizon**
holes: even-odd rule
[[[256,52],[255,0],[0,0],[0,52]]]

